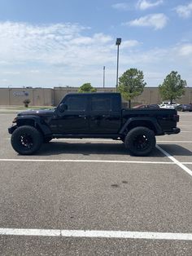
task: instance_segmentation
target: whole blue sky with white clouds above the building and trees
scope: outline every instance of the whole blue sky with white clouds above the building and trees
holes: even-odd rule
[[[159,86],[172,70],[192,86],[192,1],[1,0],[0,86],[116,85],[144,73]]]

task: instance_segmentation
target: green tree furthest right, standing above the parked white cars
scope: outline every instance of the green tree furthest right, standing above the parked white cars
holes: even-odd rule
[[[171,104],[174,99],[180,98],[185,94],[186,81],[181,79],[177,71],[172,71],[164,79],[162,85],[159,85],[159,93],[161,98],[169,99]]]

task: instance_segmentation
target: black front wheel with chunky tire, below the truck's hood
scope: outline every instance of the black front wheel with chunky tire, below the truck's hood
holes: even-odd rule
[[[20,155],[32,155],[41,144],[42,135],[33,126],[20,126],[11,135],[11,145]]]

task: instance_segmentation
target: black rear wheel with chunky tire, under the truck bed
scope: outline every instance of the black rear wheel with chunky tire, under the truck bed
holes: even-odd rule
[[[155,133],[146,127],[136,127],[124,139],[125,148],[134,156],[145,157],[155,148]]]

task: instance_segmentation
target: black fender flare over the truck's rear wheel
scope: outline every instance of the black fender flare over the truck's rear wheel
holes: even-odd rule
[[[131,117],[124,123],[124,126],[120,129],[119,134],[123,135],[124,131],[127,130],[127,127],[129,127],[135,121],[147,121],[148,123],[151,124],[151,126],[154,127],[155,135],[163,135],[164,134],[161,126],[159,126],[159,123],[155,117]]]

